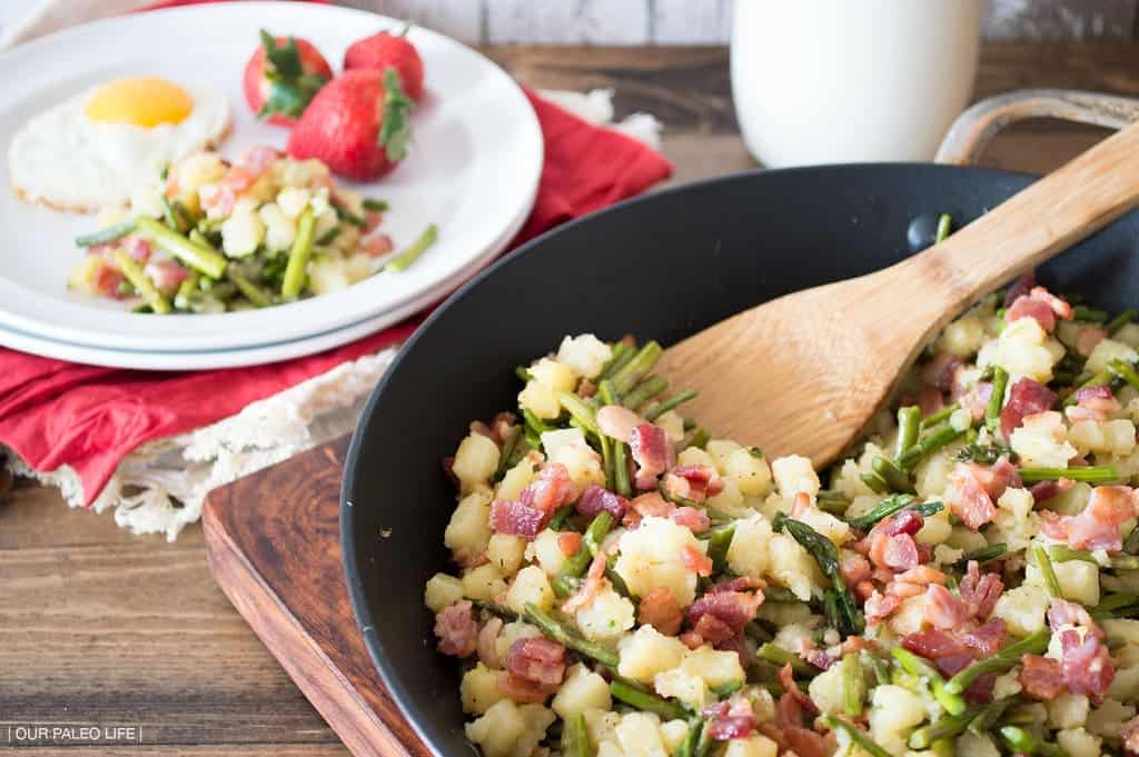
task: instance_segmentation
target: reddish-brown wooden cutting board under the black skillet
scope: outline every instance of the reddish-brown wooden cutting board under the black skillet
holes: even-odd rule
[[[215,489],[202,521],[218,584],[357,757],[427,757],[357,630],[341,569],[349,438]]]

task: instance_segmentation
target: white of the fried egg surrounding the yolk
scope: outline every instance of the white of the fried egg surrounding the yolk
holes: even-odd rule
[[[182,87],[194,109],[177,124],[144,129],[88,121],[83,108],[98,88],[31,118],[8,148],[13,189],[56,209],[125,206],[132,194],[154,187],[162,166],[215,146],[229,130],[224,94]]]

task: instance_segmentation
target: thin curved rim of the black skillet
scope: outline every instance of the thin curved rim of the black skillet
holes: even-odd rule
[[[542,244],[550,237],[562,233],[563,231],[568,231],[583,223],[590,223],[597,217],[606,216],[612,213],[624,212],[629,207],[639,206],[641,204],[650,204],[657,197],[671,196],[678,192],[695,191],[703,187],[711,184],[731,183],[735,181],[746,181],[756,175],[786,175],[786,174],[797,174],[797,173],[842,173],[850,171],[904,171],[910,168],[919,168],[921,171],[944,171],[947,173],[958,173],[966,172],[972,174],[984,174],[992,176],[994,179],[1024,179],[1024,178],[1036,178],[1035,174],[1030,174],[1025,172],[1017,171],[1006,171],[1003,168],[989,168],[978,166],[959,166],[959,165],[943,165],[933,163],[918,163],[918,162],[899,162],[899,163],[842,163],[833,165],[811,165],[811,166],[795,166],[789,168],[755,168],[752,171],[743,171],[732,174],[727,174],[723,176],[713,176],[710,179],[702,179],[698,181],[686,182],[682,184],[677,184],[675,187],[669,187],[658,191],[653,191],[648,194],[633,197],[631,199],[616,203],[607,208],[589,213],[582,217],[568,221],[559,227],[556,227],[544,233],[525,242],[518,249],[515,249],[506,255],[503,255],[498,261],[494,261],[491,265],[478,272],[473,279],[462,285],[458,290],[456,290],[450,297],[448,297],[441,305],[439,305],[435,311],[415,330],[410,338],[400,347],[400,351],[392,359],[392,363],[384,371],[379,381],[372,388],[371,394],[368,396],[368,402],[364,405],[363,411],[360,414],[360,420],[357,422],[355,430],[352,434],[352,441],[349,445],[347,458],[344,464],[344,477],[341,482],[341,510],[339,510],[339,528],[341,528],[341,562],[344,570],[345,583],[347,584],[349,599],[352,603],[352,614],[355,618],[357,628],[360,631],[364,647],[368,649],[368,655],[371,657],[372,665],[379,673],[380,681],[387,688],[392,700],[399,708],[400,714],[403,718],[411,725],[411,729],[419,737],[420,741],[428,748],[433,755],[439,755],[443,757],[445,754],[441,750],[436,743],[436,740],[424,727],[421,718],[418,711],[411,707],[411,698],[408,694],[407,689],[403,686],[400,677],[396,675],[395,670],[391,667],[390,660],[386,651],[384,650],[383,643],[380,642],[375,624],[371,617],[371,606],[368,598],[364,596],[363,585],[361,579],[361,565],[359,561],[359,556],[355,552],[355,529],[353,525],[352,510],[353,493],[355,491],[357,480],[357,469],[360,462],[361,447],[363,444],[364,429],[370,426],[372,414],[376,410],[379,398],[384,395],[388,382],[392,377],[399,371],[404,359],[415,349],[416,344],[419,339],[427,334],[436,320],[443,318],[450,307],[458,301],[462,299],[468,291],[478,287],[484,280],[495,275],[498,271],[510,265],[514,261],[519,260],[524,256],[533,254],[535,250],[540,249]],[[458,693],[458,692],[456,692]]]

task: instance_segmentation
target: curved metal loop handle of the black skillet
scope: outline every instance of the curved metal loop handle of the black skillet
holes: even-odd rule
[[[1079,90],[1014,90],[969,107],[949,127],[935,163],[972,165],[997,132],[1029,118],[1123,129],[1139,121],[1139,99]]]

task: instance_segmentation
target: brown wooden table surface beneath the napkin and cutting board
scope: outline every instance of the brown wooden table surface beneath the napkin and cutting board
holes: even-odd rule
[[[655,114],[673,181],[753,167],[721,48],[487,52],[525,84],[613,88],[621,115]],[[1024,87],[1139,96],[1139,46],[985,46],[977,96]],[[983,163],[1048,171],[1103,133],[1025,124]],[[136,537],[109,515],[69,510],[54,489],[24,483],[0,504],[0,750],[8,726],[44,722],[141,726],[141,746],[64,752],[72,757],[347,755],[214,585],[200,527],[175,544]]]

